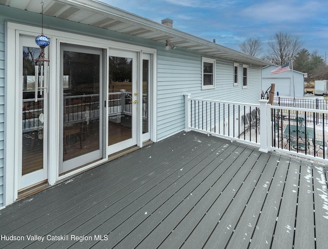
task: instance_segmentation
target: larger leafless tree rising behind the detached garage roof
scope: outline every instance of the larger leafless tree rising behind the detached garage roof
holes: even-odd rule
[[[303,45],[303,41],[298,36],[279,32],[268,41],[268,45],[267,58],[277,65],[283,65],[295,58]]]

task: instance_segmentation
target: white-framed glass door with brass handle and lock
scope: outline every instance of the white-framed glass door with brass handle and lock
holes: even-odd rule
[[[117,51],[109,56],[108,145],[112,153],[136,144],[135,67],[136,53]]]

